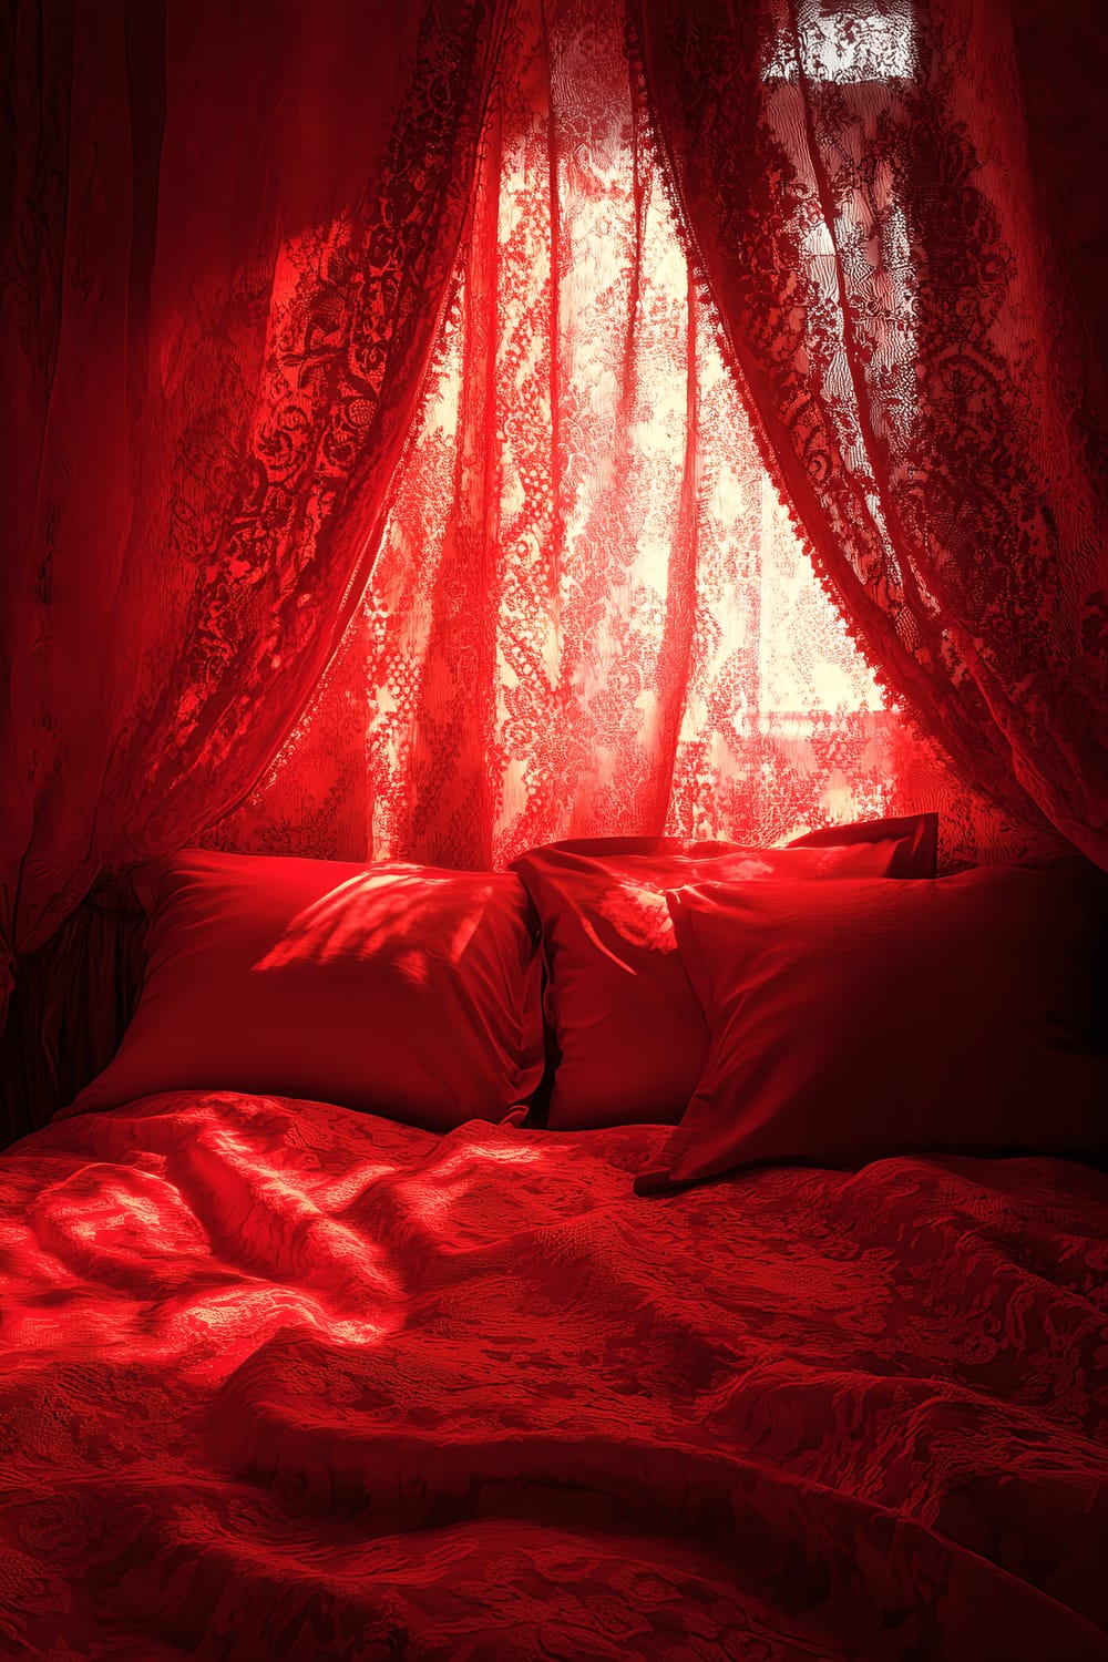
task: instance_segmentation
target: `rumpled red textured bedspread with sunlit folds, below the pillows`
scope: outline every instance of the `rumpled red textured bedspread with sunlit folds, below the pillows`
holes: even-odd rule
[[[168,1095],[0,1163],[0,1655],[1108,1657],[1108,1178]]]

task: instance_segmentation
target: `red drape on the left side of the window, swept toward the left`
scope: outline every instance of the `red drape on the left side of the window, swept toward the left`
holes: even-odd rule
[[[193,839],[360,598],[495,0],[20,0],[0,150],[0,984]]]

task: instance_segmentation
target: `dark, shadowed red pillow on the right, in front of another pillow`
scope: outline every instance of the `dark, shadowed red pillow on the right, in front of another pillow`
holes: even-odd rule
[[[669,909],[711,1050],[638,1193],[764,1162],[1105,1148],[1088,881],[709,883]]]

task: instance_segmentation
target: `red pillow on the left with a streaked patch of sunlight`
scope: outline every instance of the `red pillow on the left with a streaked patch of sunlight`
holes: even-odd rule
[[[68,1112],[243,1090],[445,1130],[542,1079],[538,927],[507,873],[191,849],[136,889],[143,996]]]

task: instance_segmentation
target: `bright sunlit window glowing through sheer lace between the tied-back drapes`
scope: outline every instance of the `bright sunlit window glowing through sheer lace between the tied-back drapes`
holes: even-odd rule
[[[851,57],[807,12],[811,63],[859,93],[874,57],[907,61],[895,17]],[[595,13],[561,0],[550,42],[517,13],[422,419],[321,700],[332,741],[365,736],[351,776],[375,858],[782,841],[902,806],[899,716],[777,500],[621,17]],[[902,226],[882,224],[902,281]]]

